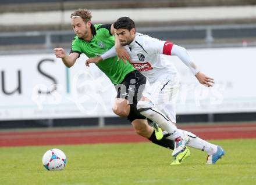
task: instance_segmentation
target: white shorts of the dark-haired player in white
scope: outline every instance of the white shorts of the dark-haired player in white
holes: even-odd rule
[[[161,75],[154,83],[147,82],[143,96],[154,103],[172,122],[176,123],[176,100],[180,81],[177,74]]]

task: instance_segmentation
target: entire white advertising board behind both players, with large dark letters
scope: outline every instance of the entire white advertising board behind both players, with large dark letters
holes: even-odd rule
[[[170,56],[182,79],[177,114],[256,111],[256,48],[189,53],[200,70],[215,79],[215,86],[198,84],[187,67]],[[97,67],[85,67],[85,60],[81,56],[67,70],[54,55],[0,56],[0,120],[114,116],[115,89]],[[51,95],[38,93],[51,90],[54,83],[57,90]]]

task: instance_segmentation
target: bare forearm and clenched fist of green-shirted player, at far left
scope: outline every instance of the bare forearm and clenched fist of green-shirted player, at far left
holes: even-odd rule
[[[66,52],[63,48],[54,49],[55,56],[61,58],[66,67],[72,67],[76,62],[76,59],[79,57],[79,53],[70,53],[66,55]]]

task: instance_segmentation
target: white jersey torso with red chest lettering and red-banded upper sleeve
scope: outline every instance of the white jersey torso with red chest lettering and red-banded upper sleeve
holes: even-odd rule
[[[136,32],[135,39],[125,46],[125,49],[130,55],[130,63],[145,75],[151,84],[163,74],[177,74],[177,69],[168,56],[163,55],[165,48],[171,49],[172,45],[170,42]]]

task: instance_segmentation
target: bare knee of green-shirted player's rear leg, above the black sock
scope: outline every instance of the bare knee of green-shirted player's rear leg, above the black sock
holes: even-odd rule
[[[148,125],[147,119],[135,119],[131,124],[138,135],[146,138],[150,138],[154,130],[150,125]]]

